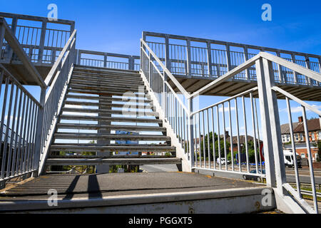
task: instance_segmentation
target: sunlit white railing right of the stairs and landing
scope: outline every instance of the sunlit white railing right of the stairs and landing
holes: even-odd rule
[[[143,33],[143,35],[146,35],[146,33]],[[151,34],[148,33],[148,35]],[[158,36],[158,33],[153,33],[152,35]],[[293,76],[292,78],[294,78],[295,83],[300,82],[305,84],[305,86],[307,83],[309,83],[310,86],[312,86],[312,84],[320,85],[321,74],[315,72],[316,68],[307,68],[307,65],[303,64],[303,61],[292,62],[297,53],[292,53],[291,59],[284,59],[271,53],[260,52],[243,62],[238,62],[237,60],[233,60],[233,58],[230,60],[227,59],[228,63],[238,63],[238,66],[233,68],[228,67],[231,65],[225,66],[226,70],[219,70],[220,73],[222,73],[220,77],[215,78],[213,82],[208,83],[208,85],[195,91],[195,93],[188,94],[183,86],[176,81],[172,72],[170,72],[170,69],[173,69],[173,59],[171,59],[170,54],[166,55],[166,53],[170,53],[171,48],[170,45],[167,45],[168,38],[168,36],[165,36],[166,45],[162,43],[151,44],[151,42],[145,42],[144,37],[141,39],[141,73],[148,83],[148,87],[151,88],[152,94],[156,97],[158,104],[161,106],[165,119],[168,121],[170,128],[175,132],[178,140],[183,138],[181,132],[187,130],[187,138],[183,138],[182,141],[187,142],[189,151],[187,153],[188,156],[182,157],[182,159],[188,160],[190,164],[189,169],[233,172],[235,174],[240,173],[241,175],[265,177],[267,186],[275,187],[278,194],[283,195],[285,190],[295,198],[295,201],[301,205],[305,212],[317,213],[317,193],[315,190],[310,141],[306,140],[306,144],[309,154],[310,181],[312,184],[311,194],[313,196],[314,209],[302,199],[296,160],[294,164],[296,184],[298,186],[297,190],[293,189],[289,183],[287,183],[285,162],[282,153],[282,138],[280,134],[280,110],[277,106],[277,95],[278,98],[286,99],[289,122],[292,127],[289,100],[293,100],[302,105],[305,138],[308,139],[309,132],[307,129],[306,109],[316,113],[321,118],[320,110],[287,93],[287,91],[282,90],[277,87],[277,85],[279,85],[278,83],[280,82],[284,82],[285,78],[289,79],[290,77],[288,75]],[[152,48],[156,50],[160,58],[158,58],[157,53],[153,52]],[[186,53],[188,53],[187,59],[195,60],[195,58],[188,57],[189,55],[192,56],[189,49],[187,48],[185,50]],[[241,55],[241,53],[232,53],[232,55],[237,54]],[[174,56],[177,57],[177,53],[175,53]],[[180,59],[182,58],[176,58],[175,64],[180,63]],[[182,66],[185,65],[183,72],[191,72],[189,69],[192,68],[189,68],[188,65],[192,65],[193,61],[182,61],[181,63],[183,63]],[[201,71],[205,72],[206,69],[208,68],[204,67]],[[277,74],[281,71],[281,74]],[[245,90],[238,95],[210,105],[207,108],[193,111],[193,99],[198,95],[206,93],[221,83],[230,80],[230,78],[240,78],[249,75],[255,78],[255,81],[258,83],[257,87]],[[287,77],[285,77],[285,75]],[[301,81],[298,80],[299,78]],[[183,99],[187,100],[188,108],[186,108],[185,103],[180,99],[178,93],[175,93],[174,90],[170,88],[168,83],[170,81],[172,81],[180,93],[183,94]],[[168,97],[170,93],[173,93],[171,96],[175,100],[174,105],[170,101],[172,98]],[[257,98],[259,98],[259,104],[257,104]],[[245,100],[250,104],[250,108],[245,108]],[[173,110],[173,112],[168,115],[168,110]],[[183,113],[185,112],[185,115],[187,115],[185,118],[186,128],[184,122],[182,125],[176,124],[180,122],[181,115],[177,115],[177,113],[180,113],[180,110],[184,110]],[[258,115],[258,113],[260,114]],[[241,126],[241,124],[243,125]],[[250,128],[248,128],[249,125]],[[175,130],[175,126],[178,126],[178,131]],[[243,128],[244,132],[244,145],[242,149],[240,148],[240,128]],[[228,135],[225,134],[227,129],[229,129]],[[249,134],[250,131],[252,132],[251,134]],[[290,132],[292,137],[291,142],[295,142],[292,128]],[[221,135],[222,133],[223,135]],[[252,138],[253,140],[253,151],[251,154],[248,138]],[[183,145],[181,145],[181,147],[183,148]],[[260,147],[263,147],[263,151],[260,151]],[[294,143],[292,143],[292,151],[296,153]],[[242,153],[245,155],[243,156],[244,158],[241,156]],[[293,157],[296,159],[296,156]],[[222,164],[221,158],[225,158],[226,162]],[[231,161],[231,164],[228,164],[228,160]],[[254,172],[250,172],[252,171],[251,169],[253,169]],[[261,170],[265,170],[265,174],[262,173]]]

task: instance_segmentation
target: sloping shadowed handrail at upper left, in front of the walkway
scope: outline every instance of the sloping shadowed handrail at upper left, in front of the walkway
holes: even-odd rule
[[[14,50],[16,55],[19,57],[20,61],[24,64],[27,71],[29,71],[31,76],[38,83],[38,85],[41,86],[41,88],[46,88],[46,83],[44,83],[44,80],[41,78],[39,72],[36,70],[34,65],[26,56],[24,49],[21,48],[19,41],[16,39],[16,36],[14,36],[14,34],[12,33],[8,24],[6,24],[6,20],[3,17],[0,17],[0,26],[4,26],[5,28],[4,38],[9,43],[9,46],[11,46],[11,48]]]

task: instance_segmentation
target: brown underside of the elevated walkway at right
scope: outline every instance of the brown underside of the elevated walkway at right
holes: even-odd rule
[[[186,91],[190,93],[194,93],[195,91],[203,88],[208,83],[213,82],[213,79],[204,79],[200,77],[188,78],[186,76],[178,76],[174,75],[175,78],[178,80],[180,85],[185,88]],[[170,86],[175,90],[175,92],[179,92],[178,88],[172,81],[169,81]],[[219,83],[218,86],[213,87],[212,89],[208,90],[203,95],[220,95],[220,96],[233,96],[242,93],[245,90],[249,90],[251,88],[255,88],[258,86],[256,81],[245,81],[245,80],[228,80],[222,83]],[[321,87],[317,86],[305,86],[305,85],[295,85],[295,86],[288,86],[281,83],[277,83],[277,86],[282,88],[283,90],[295,95],[297,98],[301,100],[313,100],[313,101],[321,101]],[[253,92],[254,97],[258,97],[258,91]],[[277,98],[285,99],[284,95],[277,94]]]

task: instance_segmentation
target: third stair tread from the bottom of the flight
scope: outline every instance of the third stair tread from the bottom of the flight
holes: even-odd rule
[[[116,135],[116,134],[93,134],[93,133],[55,133],[55,139],[79,139],[79,140],[131,140],[131,141],[170,141],[170,137],[163,135]]]

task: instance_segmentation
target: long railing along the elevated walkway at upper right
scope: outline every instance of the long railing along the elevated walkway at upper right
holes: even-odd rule
[[[164,43],[147,41],[148,37],[163,38]],[[253,58],[260,51],[268,51],[312,71],[320,72],[321,56],[308,53],[148,31],[143,32],[143,40],[148,43],[148,46],[163,63],[167,62],[166,67],[173,75],[188,78],[218,78]],[[175,41],[183,41],[185,44],[175,44]],[[278,68],[275,65],[273,69],[277,83],[320,86],[317,81],[310,80],[283,66]],[[255,68],[248,68],[246,71],[238,73],[233,77],[233,80],[256,81]]]

